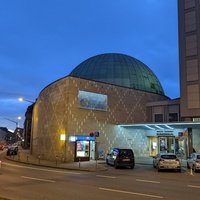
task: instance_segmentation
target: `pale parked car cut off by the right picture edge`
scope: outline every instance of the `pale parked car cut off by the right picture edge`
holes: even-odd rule
[[[194,172],[200,170],[200,153],[192,153],[187,159],[187,168],[192,168]]]

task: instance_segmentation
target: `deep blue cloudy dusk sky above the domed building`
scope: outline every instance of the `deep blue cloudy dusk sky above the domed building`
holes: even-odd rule
[[[166,96],[179,97],[176,0],[0,0],[0,127],[87,58],[123,53],[145,63]]]

